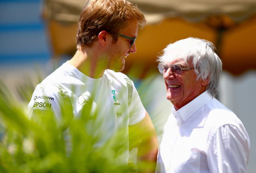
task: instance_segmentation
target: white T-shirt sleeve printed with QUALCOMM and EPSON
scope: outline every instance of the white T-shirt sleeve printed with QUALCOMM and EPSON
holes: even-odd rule
[[[38,123],[42,119],[54,116],[57,125],[64,125],[63,110],[65,110],[62,93],[54,84],[38,84],[28,104],[28,117]]]

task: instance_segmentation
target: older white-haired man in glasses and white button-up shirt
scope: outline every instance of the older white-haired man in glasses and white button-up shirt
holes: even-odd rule
[[[247,172],[249,136],[237,116],[213,97],[222,69],[214,49],[206,40],[186,38],[169,44],[158,59],[173,107],[157,172]]]

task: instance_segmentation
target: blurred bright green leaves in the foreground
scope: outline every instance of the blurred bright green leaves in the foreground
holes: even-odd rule
[[[92,130],[85,128],[89,117],[73,118],[67,129],[56,122],[52,113],[38,114],[29,119],[25,106],[31,99],[35,85],[27,79],[27,83],[17,87],[22,102],[0,81],[0,172],[137,172],[136,165],[131,161],[129,164],[119,161],[122,153],[127,152],[123,148],[128,142],[122,130],[103,146],[95,147],[100,135],[104,134],[92,135],[88,132]],[[36,82],[40,83],[41,80],[39,75]],[[148,84],[149,81],[145,85]],[[89,115],[90,109],[83,111],[83,115]],[[97,123],[95,127],[100,126],[100,122]],[[136,139],[135,133],[130,140],[136,146],[140,139]],[[154,164],[142,165],[150,168]]]

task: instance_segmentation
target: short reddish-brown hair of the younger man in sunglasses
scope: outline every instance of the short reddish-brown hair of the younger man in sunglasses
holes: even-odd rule
[[[81,12],[77,29],[77,48],[90,47],[100,31],[117,39],[117,33],[132,19],[142,28],[145,16],[136,5],[126,0],[88,0]]]

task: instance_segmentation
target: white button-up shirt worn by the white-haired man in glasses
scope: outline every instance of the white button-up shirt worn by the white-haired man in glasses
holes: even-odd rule
[[[249,150],[243,123],[205,91],[178,111],[172,108],[156,172],[247,172]]]

